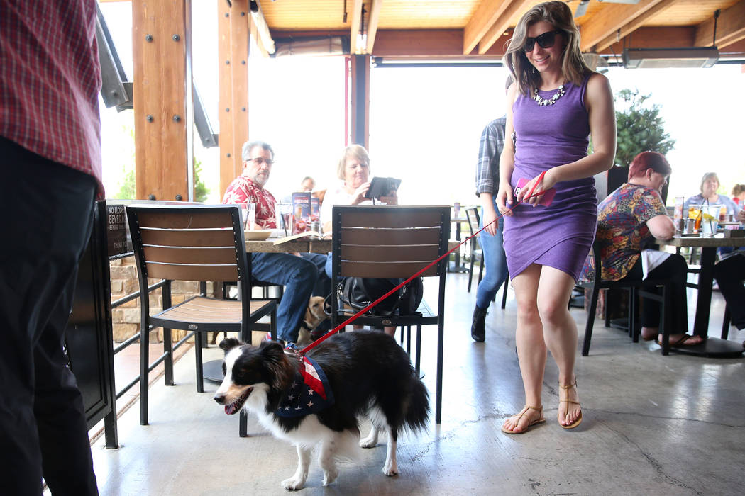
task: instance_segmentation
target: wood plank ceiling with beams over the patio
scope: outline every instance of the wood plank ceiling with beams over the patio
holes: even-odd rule
[[[226,1],[226,0],[216,0]],[[577,17],[583,51],[711,46],[745,57],[745,0],[590,0]],[[522,14],[538,0],[259,0],[273,39],[349,37],[377,57],[501,57]],[[572,10],[580,0],[568,0]],[[365,37],[357,36],[364,34]]]

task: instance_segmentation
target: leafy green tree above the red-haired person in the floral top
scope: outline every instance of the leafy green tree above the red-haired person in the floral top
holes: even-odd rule
[[[638,90],[622,89],[615,95],[615,111],[618,138],[615,164],[628,167],[641,152],[667,154],[675,147],[675,140],[665,132],[664,121],[659,115],[659,105],[647,106],[651,94],[639,94]],[[618,110],[621,100],[623,110]]]

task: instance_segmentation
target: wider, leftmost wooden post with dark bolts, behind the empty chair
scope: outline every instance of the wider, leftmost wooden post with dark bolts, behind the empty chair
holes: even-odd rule
[[[193,200],[191,0],[133,0],[132,37],[136,196]]]

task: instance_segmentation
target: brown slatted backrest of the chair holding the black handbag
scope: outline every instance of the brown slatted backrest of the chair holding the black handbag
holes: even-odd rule
[[[335,206],[332,223],[338,277],[410,277],[447,250],[450,210]],[[444,267],[422,276],[437,276]]]

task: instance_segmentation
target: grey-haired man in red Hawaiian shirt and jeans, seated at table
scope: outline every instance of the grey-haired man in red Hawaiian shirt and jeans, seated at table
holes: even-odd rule
[[[249,141],[243,145],[241,157],[243,173],[230,183],[223,203],[255,203],[256,226],[276,228],[276,200],[264,189],[274,164],[274,150],[263,141]],[[285,286],[277,309],[277,336],[283,341],[296,342],[308,299],[318,279],[317,265],[292,254],[253,253],[251,274],[258,280]]]

